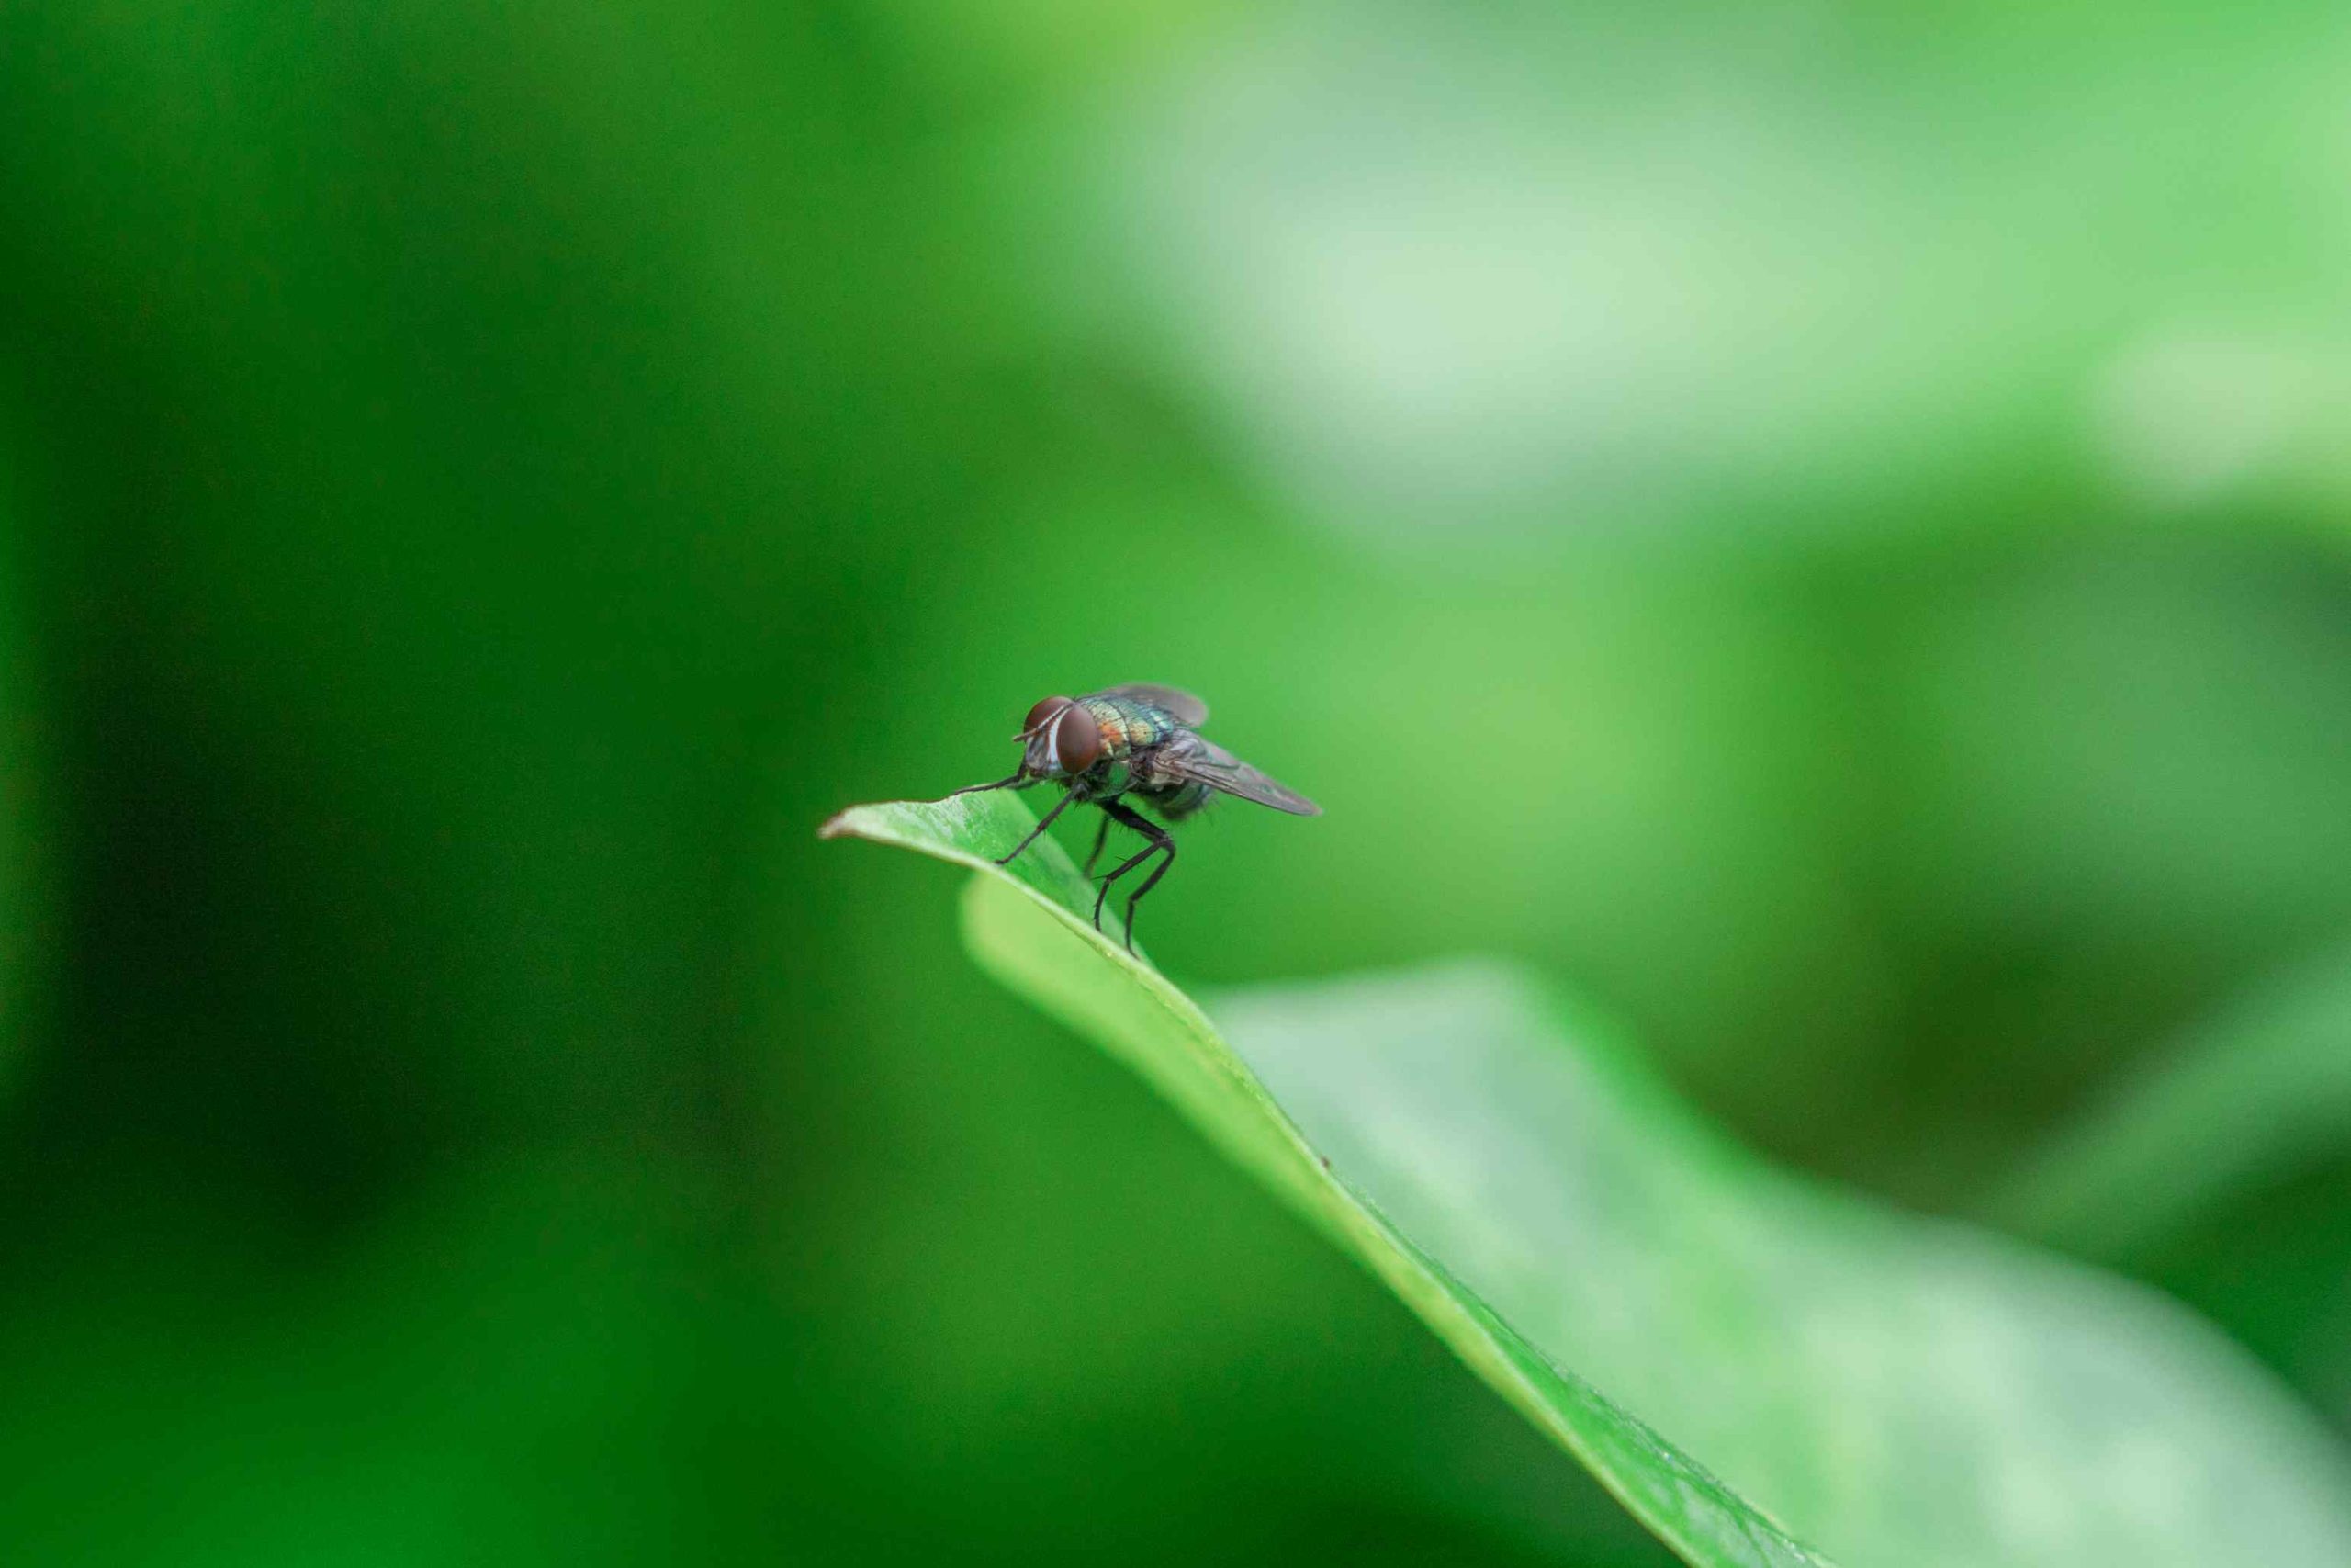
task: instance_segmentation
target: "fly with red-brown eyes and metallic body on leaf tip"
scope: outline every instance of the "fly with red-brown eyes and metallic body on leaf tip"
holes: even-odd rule
[[[1161,823],[1180,823],[1218,795],[1239,795],[1291,816],[1321,816],[1321,806],[1305,795],[1274,783],[1201,736],[1199,726],[1206,722],[1208,705],[1176,686],[1128,684],[1091,696],[1049,696],[1030,708],[1027,722],[1013,736],[1023,745],[1020,771],[1011,778],[957,790],[957,795],[1027,790],[1037,783],[1063,788],[1053,809],[997,865],[1016,860],[1023,849],[1037,842],[1037,835],[1053,825],[1056,816],[1079,804],[1103,809],[1093,853],[1086,856],[1086,877],[1093,877],[1093,865],[1103,858],[1112,823],[1143,835],[1145,846],[1112,865],[1093,896],[1093,929],[1100,931],[1103,900],[1110,898],[1112,884],[1159,856],[1143,884],[1126,896],[1126,950],[1133,952],[1136,905],[1176,865],[1176,839],[1128,802],[1150,806]]]

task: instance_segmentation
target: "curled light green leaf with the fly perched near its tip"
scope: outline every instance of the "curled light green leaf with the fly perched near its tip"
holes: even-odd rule
[[[1704,1568],[2351,1561],[2351,1472],[2184,1309],[1775,1173],[1500,964],[1215,1001],[1006,795],[828,837],[983,875],[978,961],[1140,1072]],[[1799,1544],[1806,1542],[1806,1544]]]

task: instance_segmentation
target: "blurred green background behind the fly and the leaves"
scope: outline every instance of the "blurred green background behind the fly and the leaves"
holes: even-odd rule
[[[2346,103],[2323,5],[0,12],[7,1559],[1660,1561],[813,827],[1194,686],[1328,816],[1173,976],[1521,954],[1968,1213],[2351,931]],[[2231,1204],[2123,1262],[2351,1425],[2351,1138]]]

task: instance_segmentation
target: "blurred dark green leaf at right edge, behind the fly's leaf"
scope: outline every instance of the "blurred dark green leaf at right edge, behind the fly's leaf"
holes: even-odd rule
[[[2010,1229],[2137,1260],[2229,1201],[2351,1154],[2351,952],[2179,1041],[1989,1201]]]

